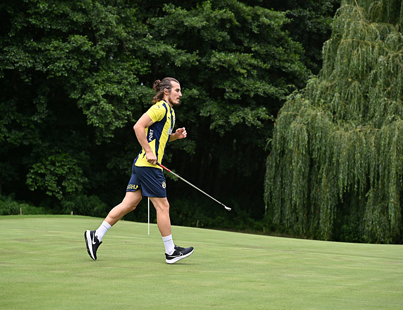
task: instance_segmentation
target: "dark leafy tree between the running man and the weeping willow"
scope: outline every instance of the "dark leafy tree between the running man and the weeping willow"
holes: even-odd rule
[[[160,75],[184,81],[177,119],[193,145],[191,153],[172,153],[173,168],[183,174],[194,167],[186,175],[190,182],[219,197],[235,194],[232,203],[261,217],[272,115],[310,74],[300,60],[301,44],[283,29],[289,19],[284,12],[234,0],[189,9],[165,5],[158,16],[148,20],[147,44],[139,44],[150,46],[147,54]]]

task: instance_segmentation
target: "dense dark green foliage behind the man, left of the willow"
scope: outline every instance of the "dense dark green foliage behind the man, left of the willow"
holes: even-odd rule
[[[234,222],[261,220],[272,115],[316,73],[336,5],[3,1],[0,193],[55,213],[83,196],[118,203],[140,150],[132,125],[151,104],[153,82],[173,76],[183,93],[177,126],[188,138],[170,144],[165,164],[232,204]],[[207,222],[222,216],[194,195],[168,182],[171,204],[180,199]]]

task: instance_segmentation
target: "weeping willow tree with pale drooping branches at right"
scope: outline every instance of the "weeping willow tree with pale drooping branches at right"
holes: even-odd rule
[[[276,120],[264,199],[277,230],[402,242],[402,29],[402,0],[342,2],[319,75]]]

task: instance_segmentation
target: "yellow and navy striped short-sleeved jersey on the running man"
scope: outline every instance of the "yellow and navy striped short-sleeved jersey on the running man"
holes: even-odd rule
[[[146,128],[147,141],[157,156],[158,162],[162,163],[165,156],[165,149],[171,137],[175,125],[175,112],[165,100],[158,101],[146,112],[153,124]],[[137,167],[160,168],[147,162],[146,151],[142,148],[135,161]],[[160,168],[162,169],[162,168]]]

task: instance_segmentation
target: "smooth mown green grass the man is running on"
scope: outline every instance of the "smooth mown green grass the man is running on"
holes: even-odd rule
[[[155,224],[0,216],[0,309],[401,309],[403,247],[173,226],[194,253],[165,263]]]

